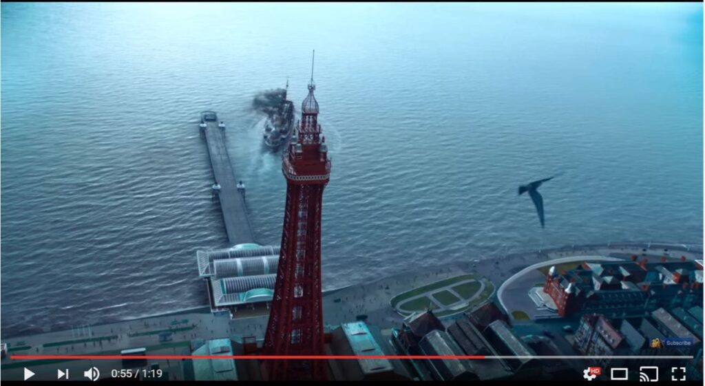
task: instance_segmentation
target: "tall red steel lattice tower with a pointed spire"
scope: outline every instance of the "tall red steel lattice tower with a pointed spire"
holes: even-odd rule
[[[286,208],[274,299],[264,337],[265,355],[324,355],[321,206],[331,161],[318,124],[313,63],[308,89],[301,120],[282,157]],[[262,367],[268,380],[326,379],[323,360],[266,360]]]

